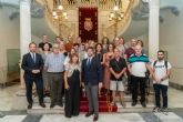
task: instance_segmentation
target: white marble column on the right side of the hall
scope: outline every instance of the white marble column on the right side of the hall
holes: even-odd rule
[[[149,55],[150,59],[156,59],[159,50],[159,11],[160,0],[149,0]]]

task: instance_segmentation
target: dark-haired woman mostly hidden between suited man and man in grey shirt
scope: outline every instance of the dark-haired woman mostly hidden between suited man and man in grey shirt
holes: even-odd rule
[[[49,53],[50,53],[50,44],[44,43],[43,51],[41,53],[43,62],[45,62],[47,55]],[[42,79],[43,79],[44,95],[50,95],[50,82],[49,82],[48,73],[45,70],[43,70],[42,72]]]

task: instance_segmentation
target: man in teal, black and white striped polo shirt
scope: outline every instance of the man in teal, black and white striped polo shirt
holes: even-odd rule
[[[145,101],[145,89],[146,89],[146,75],[145,72],[152,74],[152,69],[149,63],[149,57],[142,53],[142,47],[135,47],[135,53],[132,54],[129,59],[129,71],[131,73],[132,80],[132,106],[135,106],[138,103],[138,88],[140,87],[141,92],[141,104],[143,108],[146,108]],[[139,85],[140,84],[140,85]]]

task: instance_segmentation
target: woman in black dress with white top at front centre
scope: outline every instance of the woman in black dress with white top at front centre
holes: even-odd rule
[[[65,88],[65,116],[79,115],[80,108],[80,64],[78,54],[71,54],[70,62],[65,67],[64,88]]]

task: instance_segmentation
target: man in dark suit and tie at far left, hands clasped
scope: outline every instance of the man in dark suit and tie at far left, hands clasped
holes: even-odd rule
[[[37,44],[31,42],[29,44],[30,52],[23,55],[21,68],[24,70],[24,82],[27,89],[28,109],[32,108],[32,84],[35,83],[37,92],[39,95],[39,103],[42,108],[45,108],[43,103],[43,81],[42,81],[42,69],[43,60],[40,54],[35,52]]]

